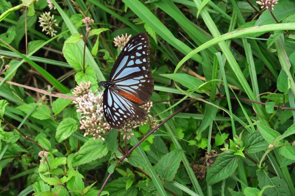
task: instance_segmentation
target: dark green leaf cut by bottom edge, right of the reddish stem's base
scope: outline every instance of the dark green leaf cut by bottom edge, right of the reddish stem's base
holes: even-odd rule
[[[138,189],[136,187],[133,186],[126,190],[126,184],[129,179],[128,177],[119,177],[108,183],[104,191],[109,192],[110,196],[137,196]]]

